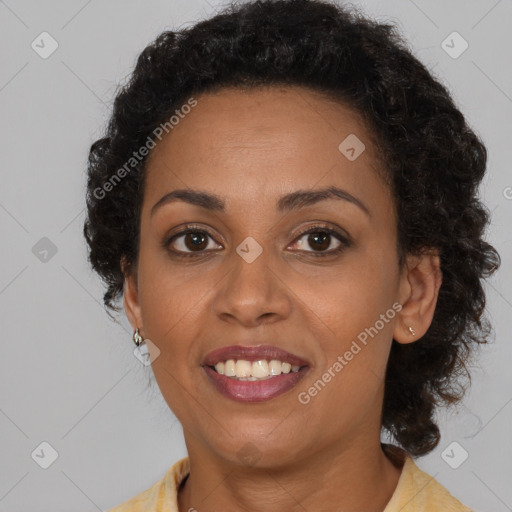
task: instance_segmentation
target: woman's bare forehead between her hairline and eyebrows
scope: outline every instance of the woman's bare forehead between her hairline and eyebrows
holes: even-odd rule
[[[316,91],[230,88],[195,99],[151,151],[146,210],[178,188],[229,197],[228,209],[296,189],[336,185],[377,200],[387,188],[361,117]]]

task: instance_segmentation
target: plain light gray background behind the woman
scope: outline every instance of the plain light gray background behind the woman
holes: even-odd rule
[[[180,424],[133,355],[126,318],[117,325],[102,307],[82,237],[84,171],[138,53],[218,5],[0,1],[0,512],[106,510],[186,455]],[[358,5],[398,24],[489,150],[482,196],[503,261],[486,286],[495,341],[481,351],[458,412],[440,414],[438,449],[417,464],[477,510],[512,510],[512,2]],[[43,31],[59,45],[46,59],[31,47]],[[458,58],[442,47],[453,31],[469,44]],[[58,454],[47,469],[44,441]],[[469,454],[457,469],[442,457],[454,441]]]

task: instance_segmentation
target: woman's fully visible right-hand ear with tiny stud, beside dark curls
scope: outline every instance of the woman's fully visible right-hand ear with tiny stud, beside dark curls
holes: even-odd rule
[[[399,286],[402,309],[397,314],[393,331],[393,338],[398,343],[411,343],[427,332],[434,318],[442,280],[437,249],[407,256]],[[409,327],[412,327],[414,334]]]

